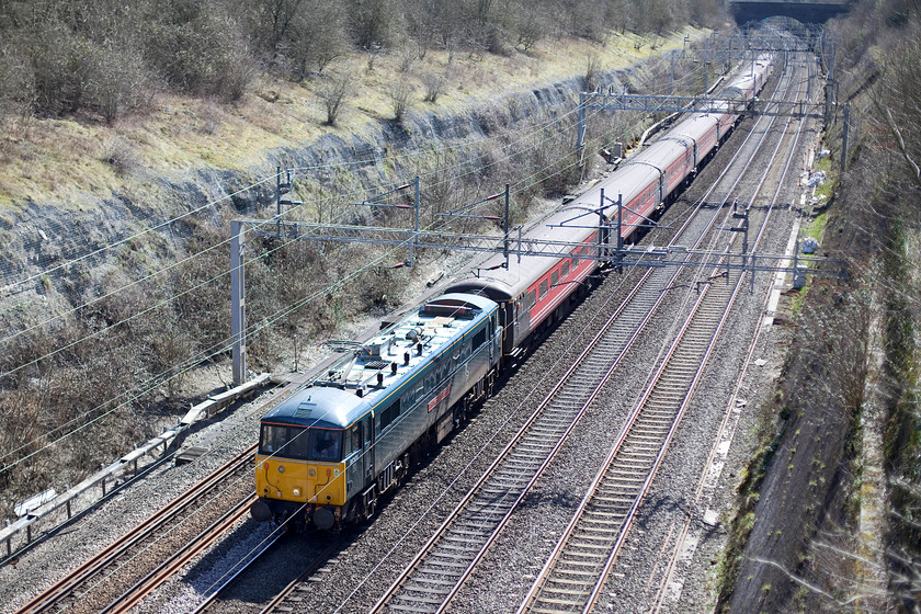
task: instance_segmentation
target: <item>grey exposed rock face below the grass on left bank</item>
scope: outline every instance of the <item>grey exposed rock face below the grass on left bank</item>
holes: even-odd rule
[[[606,88],[626,78],[627,72],[607,72],[599,82]],[[582,79],[571,78],[509,94],[456,115],[410,113],[402,124],[379,122],[351,138],[326,135],[310,145],[269,151],[264,158],[297,169],[297,179],[308,177],[320,185],[333,185],[337,172],[343,171],[356,186],[386,185],[408,179],[403,172],[411,172],[405,161],[407,154],[468,143],[467,159],[476,160],[482,137],[571,112],[581,89]],[[342,170],[331,168],[337,164]],[[200,169],[182,181],[152,178],[155,191],[162,195],[157,203],[136,202],[132,195],[120,193],[104,200],[84,195],[78,206],[22,203],[15,212],[0,217],[0,241],[4,246],[0,252],[0,302],[15,297],[31,302],[45,294],[49,280],[77,302],[84,286],[96,277],[94,273],[112,262],[120,242],[129,237],[152,232],[167,252],[181,252],[193,231],[185,223],[191,216],[217,226],[231,218],[271,217],[275,213],[275,182],[245,187],[274,172],[274,163],[263,163],[243,172]]]

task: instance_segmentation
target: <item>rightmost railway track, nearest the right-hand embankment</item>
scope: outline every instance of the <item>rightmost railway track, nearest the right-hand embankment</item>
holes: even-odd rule
[[[778,140],[772,154],[772,164],[782,141]],[[796,138],[784,161],[784,174],[789,168],[795,144]],[[758,190],[763,184],[762,178]],[[752,251],[764,235],[776,194],[757,221]],[[732,242],[736,242],[735,237]],[[639,398],[516,614],[588,614],[596,605],[743,285],[743,275],[729,271],[720,273],[718,269],[710,271],[708,278],[716,282],[720,276],[726,278],[726,284],[708,283],[701,289],[680,334]],[[657,599],[657,605],[660,604],[661,598]]]

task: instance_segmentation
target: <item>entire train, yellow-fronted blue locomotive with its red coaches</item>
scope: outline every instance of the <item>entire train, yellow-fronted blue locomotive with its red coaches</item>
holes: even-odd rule
[[[757,58],[721,96],[752,100],[772,68],[770,55]],[[714,155],[743,106],[679,121],[523,235],[525,242],[567,246],[556,254],[487,259],[270,410],[260,423],[252,518],[321,531],[371,518],[380,498],[492,394],[535,333],[587,292],[604,265],[611,228],[619,227],[624,242],[637,240]]]

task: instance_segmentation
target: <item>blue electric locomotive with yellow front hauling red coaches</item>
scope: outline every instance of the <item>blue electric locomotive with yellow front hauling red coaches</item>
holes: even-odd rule
[[[333,530],[371,516],[491,389],[498,305],[453,293],[411,311],[262,418],[255,520]]]

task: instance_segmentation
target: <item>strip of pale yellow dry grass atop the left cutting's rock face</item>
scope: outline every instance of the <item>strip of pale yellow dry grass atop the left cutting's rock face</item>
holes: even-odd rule
[[[681,47],[685,33],[700,38],[706,32],[690,30],[650,41],[636,49],[636,36],[612,35],[604,46],[581,39],[547,39],[527,54],[509,56],[430,52],[401,79],[416,86],[413,109],[450,113],[476,101],[496,98],[539,83],[584,73],[588,57],[602,69],[623,68],[652,53]],[[368,70],[365,54],[338,60],[337,69],[355,76],[357,95],[350,99],[336,126],[327,126],[326,111],[315,92],[320,83],[262,76],[242,99],[231,105],[211,100],[161,94],[152,109],[104,125],[91,120],[36,120],[0,136],[0,207],[26,200],[75,206],[87,195],[109,196],[114,190],[144,195],[150,177],[173,177],[211,167],[248,169],[263,161],[265,151],[280,146],[309,144],[323,134],[361,134],[373,122],[393,116],[388,86],[398,73],[399,54],[375,58]],[[422,102],[427,75],[450,73],[436,103]],[[111,156],[112,144],[127,156],[120,163]]]

